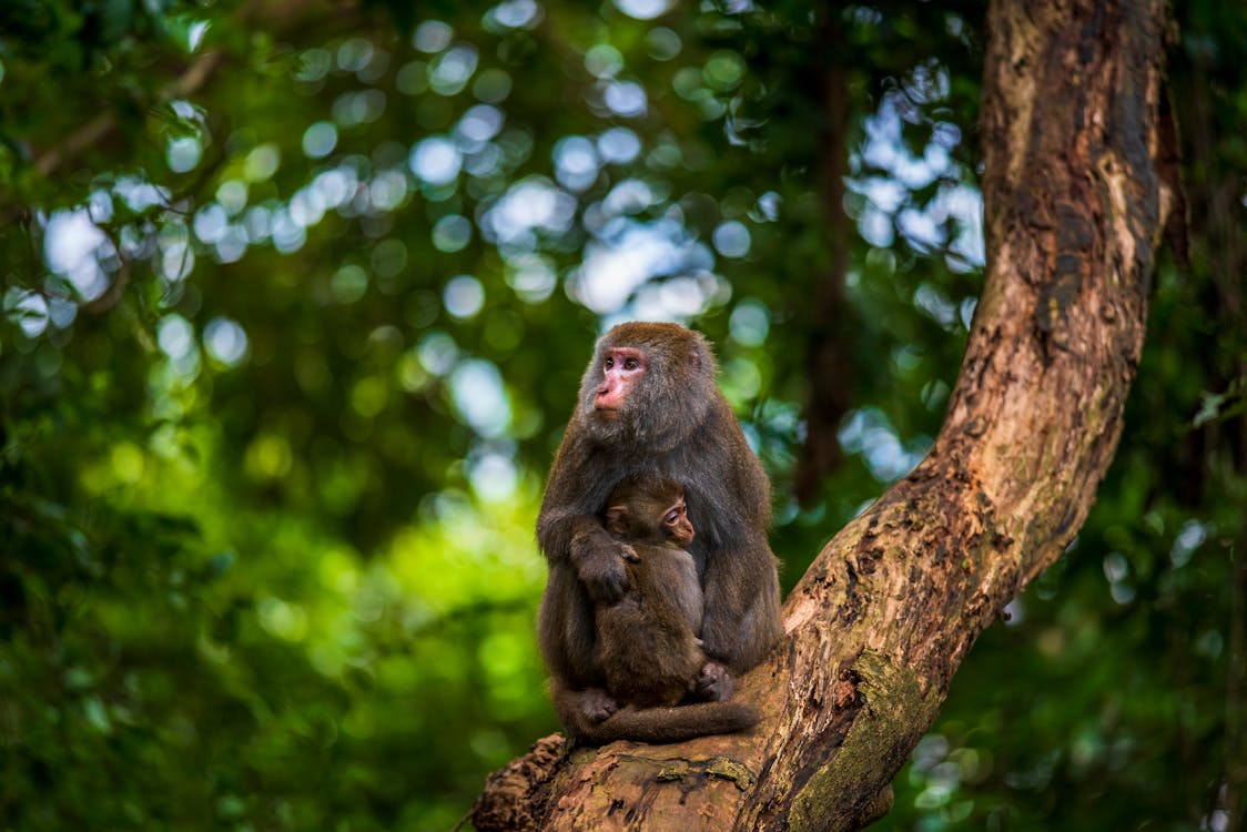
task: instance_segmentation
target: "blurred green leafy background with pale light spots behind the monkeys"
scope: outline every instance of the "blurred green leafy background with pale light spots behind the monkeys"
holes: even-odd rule
[[[1176,15],[1191,262],[1082,534],[882,828],[1221,830],[1242,800],[1247,15]],[[556,727],[532,521],[616,319],[718,344],[791,585],[939,429],[983,40],[969,2],[4,4],[4,828],[453,826]],[[855,233],[819,321],[833,66]],[[828,328],[854,409],[802,508]]]

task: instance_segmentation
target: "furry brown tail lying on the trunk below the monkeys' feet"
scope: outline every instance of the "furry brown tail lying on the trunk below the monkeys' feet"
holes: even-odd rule
[[[625,707],[602,722],[576,720],[576,738],[590,745],[616,740],[680,742],[711,733],[732,733],[758,723],[757,709],[742,702],[696,702],[675,707]]]

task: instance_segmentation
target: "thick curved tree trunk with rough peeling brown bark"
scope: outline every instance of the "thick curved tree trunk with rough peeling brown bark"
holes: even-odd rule
[[[547,737],[478,828],[849,830],[890,802],[979,632],[1069,545],[1121,429],[1153,254],[1163,2],[993,2],[986,284],[930,455],[832,540],[788,640],[741,685],[751,732],[673,746]]]

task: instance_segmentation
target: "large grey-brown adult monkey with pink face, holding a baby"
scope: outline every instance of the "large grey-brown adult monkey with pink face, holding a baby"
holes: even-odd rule
[[[537,544],[550,568],[537,640],[565,727],[601,722],[617,704],[595,659],[595,604],[627,589],[627,551],[600,513],[638,474],[687,483],[688,551],[705,596],[698,634],[710,659],[698,685],[727,699],[732,674],[758,664],[783,632],[767,544],[771,485],[715,383],[710,344],[673,323],[624,323],[597,342],[550,468]],[[678,710],[678,709],[677,709]]]

